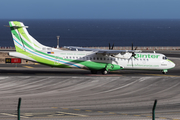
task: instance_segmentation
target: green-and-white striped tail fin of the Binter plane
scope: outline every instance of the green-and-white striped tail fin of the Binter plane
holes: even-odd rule
[[[14,45],[17,52],[27,50],[43,50],[47,48],[35,40],[27,31],[28,26],[24,26],[22,22],[10,21],[9,22]]]

